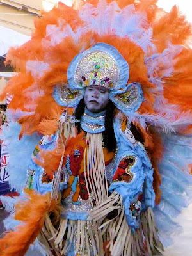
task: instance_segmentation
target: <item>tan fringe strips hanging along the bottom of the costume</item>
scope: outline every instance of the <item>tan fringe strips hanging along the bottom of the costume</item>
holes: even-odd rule
[[[118,215],[113,220],[108,220],[106,216],[113,207],[110,206],[108,209],[107,206],[111,205],[111,202],[117,204]],[[102,215],[98,215],[100,210]],[[134,234],[131,234],[131,228],[127,225],[122,198],[115,192],[109,196],[108,203],[95,207],[91,211],[91,216],[92,221],[61,219],[60,226],[56,230],[47,215],[42,232],[38,236],[40,243],[47,249],[47,255],[50,255],[48,253],[50,250],[54,250],[56,255],[67,255],[74,244],[76,253],[81,256],[104,256],[103,244],[106,241],[108,241],[106,247],[109,248],[111,256],[163,255],[163,245],[157,236],[154,214],[150,207],[141,213],[140,228]],[[63,237],[66,230],[65,241]],[[144,246],[145,241],[147,250]]]

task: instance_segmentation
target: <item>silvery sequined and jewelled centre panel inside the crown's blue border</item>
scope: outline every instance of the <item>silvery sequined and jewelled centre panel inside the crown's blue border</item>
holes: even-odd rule
[[[120,67],[107,52],[89,52],[76,66],[74,81],[82,87],[95,84],[115,88],[120,81]]]

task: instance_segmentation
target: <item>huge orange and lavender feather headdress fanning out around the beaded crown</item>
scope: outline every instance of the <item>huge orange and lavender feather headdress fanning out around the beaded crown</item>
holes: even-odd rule
[[[179,149],[182,143],[178,141],[186,141],[189,137],[184,134],[191,131],[192,50],[189,47],[191,25],[185,17],[176,6],[166,13],[156,2],[88,0],[74,4],[72,8],[58,3],[51,12],[42,13],[42,17],[35,20],[31,40],[21,47],[11,48],[6,55],[6,63],[11,63],[19,74],[8,82],[1,99],[7,92],[13,95],[9,112],[21,125],[21,141],[34,132],[53,134],[58,129],[58,118],[63,110],[72,113],[76,105],[58,105],[54,100],[56,90],[68,93],[66,102],[78,95],[68,90],[72,89],[67,77],[72,60],[100,42],[115,47],[129,65],[129,71],[125,70],[129,72],[129,79],[124,85],[140,84],[142,99],[145,99],[141,100],[136,112],[125,115],[145,141],[155,170],[154,190],[156,202],[159,202],[161,178],[157,166],[160,160],[164,157],[163,163],[159,164],[164,184],[167,182],[164,176],[168,176],[175,187],[178,183],[175,175],[180,169],[188,172],[191,164],[189,160],[177,160],[183,159]],[[92,70],[93,76],[95,72]],[[97,76],[81,74],[80,78],[83,85],[91,79],[93,83]],[[98,83],[102,81],[98,80]],[[80,94],[79,99],[81,97]],[[182,137],[166,135],[168,132],[177,132]],[[173,148],[169,148],[168,143],[176,145],[177,160],[170,158]],[[188,156],[191,156],[191,144],[185,145]],[[16,165],[10,163],[10,172]],[[168,175],[164,175],[165,169]],[[184,187],[188,184],[185,180]],[[174,195],[171,196],[175,200]],[[161,202],[169,204],[164,193]]]

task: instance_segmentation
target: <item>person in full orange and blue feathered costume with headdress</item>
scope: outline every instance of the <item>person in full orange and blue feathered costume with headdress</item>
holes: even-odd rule
[[[191,184],[190,35],[177,8],[155,1],[59,3],[10,50],[20,74],[4,90],[6,136],[20,163],[12,154],[9,168],[28,200],[15,205],[26,225],[0,241],[4,256],[34,241],[44,255],[161,255]]]

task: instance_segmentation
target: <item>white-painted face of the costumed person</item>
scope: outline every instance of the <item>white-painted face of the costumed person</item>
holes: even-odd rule
[[[86,108],[93,113],[103,111],[109,101],[109,90],[103,86],[87,86],[84,93]]]

